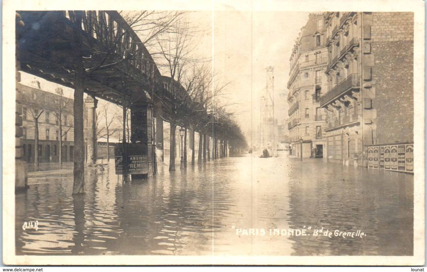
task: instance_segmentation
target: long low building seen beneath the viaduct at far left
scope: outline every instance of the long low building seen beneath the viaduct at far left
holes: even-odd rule
[[[35,82],[37,84],[37,82]],[[34,163],[35,117],[38,117],[38,155],[40,163],[58,162],[59,148],[62,160],[72,161],[74,157],[73,100],[58,94],[46,92],[37,87],[17,83],[22,93],[22,159]],[[59,112],[61,109],[62,146],[59,146]]]

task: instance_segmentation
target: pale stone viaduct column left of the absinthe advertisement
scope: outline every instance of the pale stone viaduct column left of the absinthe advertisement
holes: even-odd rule
[[[86,163],[88,163],[88,165],[97,163],[97,103],[98,100],[94,96],[88,96],[85,99],[86,108],[88,109],[88,124],[86,135],[88,145]]]

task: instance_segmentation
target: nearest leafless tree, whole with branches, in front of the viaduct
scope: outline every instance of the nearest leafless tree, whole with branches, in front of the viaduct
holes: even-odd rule
[[[100,71],[111,69],[122,63],[143,58],[141,53],[143,46],[137,46],[131,42],[129,29],[123,29],[123,25],[113,22],[111,17],[113,13],[97,12],[97,11],[67,11],[69,19],[73,22],[73,57],[74,57],[74,183],[73,194],[81,194],[85,192],[84,178],[84,135],[83,135],[83,92],[86,87],[86,80],[94,77]],[[129,26],[142,27],[148,13],[143,13],[141,16],[128,17],[127,23]],[[179,14],[177,14],[178,16]],[[116,18],[120,20],[120,18]],[[169,25],[172,26],[174,21],[170,20]],[[168,22],[165,18],[165,22]],[[147,23],[147,21],[145,21]],[[94,46],[91,52],[83,49],[82,30],[92,34],[100,41],[99,47]],[[146,41],[152,40],[162,31],[168,31],[168,27],[154,30]],[[92,43],[93,39],[88,39],[88,43]]]

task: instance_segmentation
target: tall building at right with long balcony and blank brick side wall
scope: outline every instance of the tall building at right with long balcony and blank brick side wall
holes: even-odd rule
[[[327,12],[325,25],[328,161],[412,172],[413,13]]]

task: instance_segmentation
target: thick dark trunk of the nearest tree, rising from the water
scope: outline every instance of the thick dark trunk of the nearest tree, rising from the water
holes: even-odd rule
[[[82,62],[82,11],[76,11],[76,22],[73,25],[74,36],[74,182],[73,195],[85,193],[85,145],[83,135],[83,91],[85,78]]]

